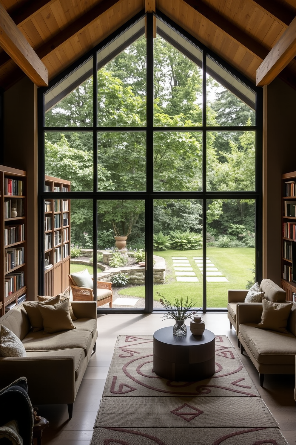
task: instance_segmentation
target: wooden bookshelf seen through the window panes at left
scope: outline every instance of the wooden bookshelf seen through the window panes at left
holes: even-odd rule
[[[68,192],[71,182],[45,176],[45,191]],[[44,200],[44,294],[57,295],[69,289],[70,199]]]

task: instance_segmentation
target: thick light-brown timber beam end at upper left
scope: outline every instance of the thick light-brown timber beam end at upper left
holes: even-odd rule
[[[48,85],[48,71],[32,46],[0,4],[0,46],[37,85]]]

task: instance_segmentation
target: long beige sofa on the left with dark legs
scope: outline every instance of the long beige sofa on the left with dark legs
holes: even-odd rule
[[[0,326],[10,329],[26,349],[25,357],[0,356],[0,387],[25,376],[33,405],[67,403],[69,417],[98,336],[95,301],[73,301],[71,306],[76,329],[53,334],[32,332],[22,304],[0,318]]]

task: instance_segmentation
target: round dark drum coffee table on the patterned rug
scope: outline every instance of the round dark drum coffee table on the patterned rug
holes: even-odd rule
[[[175,381],[203,380],[215,372],[215,335],[205,329],[193,336],[174,336],[173,326],[158,329],[153,336],[153,370]]]

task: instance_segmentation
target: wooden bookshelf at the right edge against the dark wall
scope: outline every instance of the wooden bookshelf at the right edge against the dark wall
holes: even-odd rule
[[[286,291],[286,299],[296,302],[296,283],[292,281],[292,241],[296,241],[296,171],[282,175],[282,197],[281,287]]]

